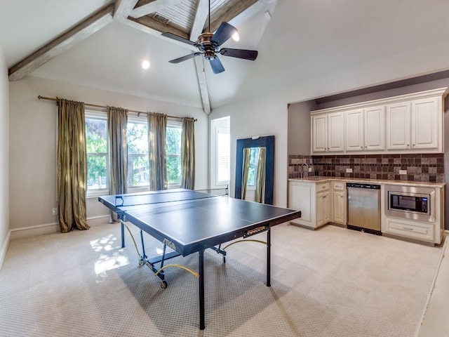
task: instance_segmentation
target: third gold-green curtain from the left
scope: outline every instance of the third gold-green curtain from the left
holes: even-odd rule
[[[167,156],[166,129],[167,115],[149,112],[148,117],[148,154],[149,154],[149,190],[166,190]]]

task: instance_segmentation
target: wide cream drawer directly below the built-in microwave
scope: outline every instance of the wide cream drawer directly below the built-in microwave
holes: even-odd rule
[[[387,218],[386,222],[385,232],[387,233],[434,242],[434,223],[419,223],[393,218]]]

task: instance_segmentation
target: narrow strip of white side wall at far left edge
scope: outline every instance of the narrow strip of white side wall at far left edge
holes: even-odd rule
[[[0,268],[8,248],[9,233],[9,81],[0,46]]]

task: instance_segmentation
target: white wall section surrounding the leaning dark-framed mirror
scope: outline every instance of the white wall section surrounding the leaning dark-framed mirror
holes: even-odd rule
[[[234,196],[237,139],[274,136],[274,205],[287,206],[287,101],[281,95],[218,107],[210,119],[231,117],[231,186]]]

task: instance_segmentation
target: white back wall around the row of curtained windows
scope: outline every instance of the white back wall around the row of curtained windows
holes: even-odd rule
[[[37,96],[60,97],[85,103],[194,117],[196,147],[195,187],[208,187],[208,116],[197,107],[164,103],[37,77],[10,83],[10,216],[11,230],[37,226],[55,228],[52,215],[56,190],[56,104]],[[0,96],[1,97],[1,96]],[[107,209],[96,198],[87,201],[88,218]],[[48,226],[47,226],[48,225]]]

